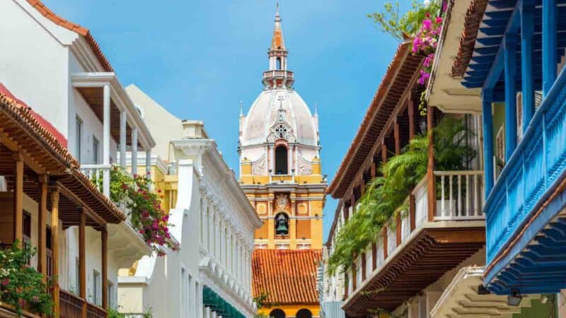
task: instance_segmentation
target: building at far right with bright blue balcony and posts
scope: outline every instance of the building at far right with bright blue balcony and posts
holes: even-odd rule
[[[563,291],[556,295],[566,286],[556,249],[565,238],[563,8],[448,2],[427,100],[482,114],[486,259],[454,276],[432,317],[558,317],[557,309],[564,317]]]

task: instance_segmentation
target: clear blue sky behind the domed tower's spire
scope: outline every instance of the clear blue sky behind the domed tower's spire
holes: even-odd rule
[[[124,86],[135,83],[175,116],[202,119],[238,169],[238,105],[262,90],[275,0],[43,0],[91,30]],[[397,43],[367,13],[383,0],[283,0],[294,88],[318,105],[323,172],[332,179]],[[408,2],[408,1],[407,1]],[[327,199],[324,240],[336,201]]]

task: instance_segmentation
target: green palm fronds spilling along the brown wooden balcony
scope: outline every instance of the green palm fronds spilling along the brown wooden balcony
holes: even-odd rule
[[[466,143],[463,119],[444,117],[433,129],[434,163],[437,170],[463,170],[466,160],[475,157]],[[364,195],[354,207],[356,213],[337,233],[334,250],[328,259],[328,272],[347,271],[355,255],[359,255],[381,235],[395,213],[406,206],[405,199],[427,173],[428,137],[415,136],[400,155],[380,167],[383,177],[376,177],[366,186]]]

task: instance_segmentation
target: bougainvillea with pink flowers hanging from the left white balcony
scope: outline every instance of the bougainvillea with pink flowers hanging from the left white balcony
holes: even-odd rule
[[[146,176],[129,176],[120,166],[112,167],[110,172],[110,198],[117,204],[125,204],[129,210],[130,222],[134,230],[144,237],[159,256],[161,247],[178,249],[171,237],[169,215],[161,208],[161,190],[152,192],[151,179]]]

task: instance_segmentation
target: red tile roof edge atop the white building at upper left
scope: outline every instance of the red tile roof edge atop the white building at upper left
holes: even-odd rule
[[[96,55],[96,58],[98,59],[100,64],[102,64],[103,69],[107,72],[114,71],[112,65],[110,65],[110,61],[108,61],[108,59],[105,57],[104,53],[102,52],[102,49],[100,49],[100,45],[98,45],[98,42],[96,42],[96,40],[94,40],[94,37],[91,35],[91,31],[89,31],[87,28],[83,28],[81,25],[72,23],[69,20],[65,20],[64,18],[57,16],[57,14],[55,14],[53,11],[47,8],[47,6],[45,6],[45,4],[43,4],[40,0],[27,0],[27,1],[37,11],[39,11],[43,16],[45,16],[45,18],[48,18],[53,23],[57,25],[61,25],[63,28],[67,28],[68,30],[71,30],[79,35],[82,35],[85,38],[86,42],[88,42],[88,45],[90,45],[91,48],[93,49],[93,52]]]

